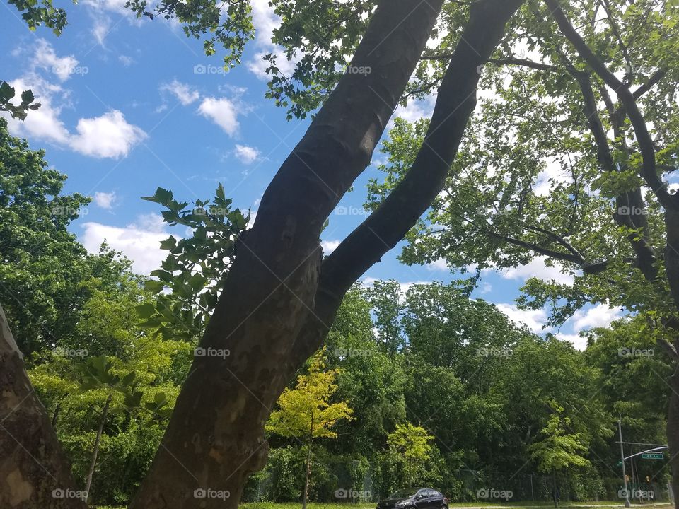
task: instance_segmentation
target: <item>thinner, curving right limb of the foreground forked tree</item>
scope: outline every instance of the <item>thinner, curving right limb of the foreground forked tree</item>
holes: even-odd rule
[[[451,54],[417,157],[378,209],[323,261],[313,315],[308,316],[294,345],[295,361],[308,358],[320,346],[344,293],[402,240],[443,189],[476,105],[478,69],[494,52],[507,21],[523,1],[480,0],[470,6],[461,37],[464,42]]]

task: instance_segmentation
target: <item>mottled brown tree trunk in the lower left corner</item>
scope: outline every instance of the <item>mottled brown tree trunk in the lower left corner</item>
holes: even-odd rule
[[[78,493],[0,307],[0,508],[81,509]]]

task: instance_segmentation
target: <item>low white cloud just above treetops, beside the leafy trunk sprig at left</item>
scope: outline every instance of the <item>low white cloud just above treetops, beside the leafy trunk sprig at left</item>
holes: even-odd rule
[[[122,251],[132,260],[132,268],[137,274],[150,274],[158,269],[167,257],[161,250],[159,242],[168,238],[163,218],[156,213],[139,216],[136,223],[124,228],[108,226],[101,223],[84,223],[81,242],[86,250],[98,253],[102,242],[115,250]],[[176,233],[174,234],[177,236]]]

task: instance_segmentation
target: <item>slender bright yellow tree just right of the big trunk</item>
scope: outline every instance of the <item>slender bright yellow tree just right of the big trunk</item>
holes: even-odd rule
[[[267,431],[284,437],[294,437],[306,443],[306,477],[302,509],[306,509],[309,476],[311,476],[311,445],[314,438],[336,438],[332,426],[340,419],[352,419],[348,402],[330,403],[337,390],[335,378],[340,370],[327,370],[325,349],[311,359],[308,373],[297,377],[294,389],[286,389],[278,399],[279,409],[272,412]]]

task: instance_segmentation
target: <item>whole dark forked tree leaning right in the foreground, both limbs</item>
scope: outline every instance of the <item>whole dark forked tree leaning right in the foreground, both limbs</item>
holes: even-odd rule
[[[198,10],[205,3],[209,4],[196,4]],[[329,2],[322,14],[340,3]],[[238,504],[248,475],[265,462],[265,422],[286,382],[323,343],[344,293],[402,239],[440,192],[475,107],[478,70],[521,4],[521,0],[477,0],[446,6],[443,19],[459,23],[446,37],[446,45],[455,50],[440,82],[419,157],[380,210],[324,260],[319,238],[325,220],[366,169],[420,62],[443,0],[425,0],[414,8],[411,0],[381,1],[367,23],[361,16],[350,17],[359,20],[349,22],[354,28],[356,23],[365,27],[342,48],[342,53],[354,54],[350,67],[323,98],[306,135],[267,188],[253,228],[241,235],[238,255],[200,341],[201,348],[228,350],[231,356],[195,358],[132,508],[156,509],[168,501],[195,505],[196,488],[228,492],[227,506]],[[247,2],[229,5],[238,8]],[[225,35],[219,30],[221,17],[214,16],[214,4],[204,8],[204,17],[195,10],[174,14],[189,22],[198,19],[201,30],[193,33],[189,26],[191,35],[200,35],[202,29]],[[163,15],[171,17],[173,11]],[[291,25],[296,25],[297,33],[308,33],[306,25],[296,24],[298,19],[291,18]],[[338,36],[342,34],[343,27],[334,26]],[[243,24],[235,28],[238,47]],[[295,45],[291,39],[291,47]],[[329,48],[332,51],[335,45],[330,43]],[[197,447],[196,437],[203,440]],[[202,472],[199,480],[193,472]],[[42,487],[47,488],[52,486]],[[221,502],[200,503],[210,508]]]

